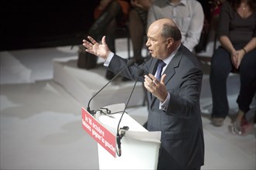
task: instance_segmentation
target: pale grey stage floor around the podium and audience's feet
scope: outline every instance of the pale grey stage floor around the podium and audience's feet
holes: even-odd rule
[[[125,41],[118,53],[126,55]],[[24,49],[0,53],[1,169],[98,169],[97,143],[82,129],[81,104],[53,80],[53,59],[76,56],[77,46]],[[255,131],[230,134],[230,117],[237,110],[237,75],[228,83],[230,117],[221,128],[210,124],[209,66],[203,66],[201,107],[205,138],[202,169],[255,169]],[[128,113],[140,124],[145,106]]]

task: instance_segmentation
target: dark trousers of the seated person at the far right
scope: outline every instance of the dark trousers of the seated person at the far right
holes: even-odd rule
[[[242,46],[234,46],[241,49]],[[256,49],[246,53],[241,61],[239,73],[241,89],[237,97],[238,107],[244,111],[249,110],[255,92],[256,77]],[[227,77],[234,66],[231,63],[230,53],[221,46],[215,50],[211,59],[210,88],[213,99],[212,117],[227,117],[229,105],[227,100]]]

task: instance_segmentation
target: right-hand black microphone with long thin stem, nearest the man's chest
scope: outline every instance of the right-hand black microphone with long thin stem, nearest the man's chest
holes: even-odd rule
[[[144,73],[144,70],[138,69],[138,72],[137,72],[138,77],[142,76],[143,73]],[[135,81],[135,85],[133,86],[133,88],[132,88],[132,90],[131,90],[131,94],[132,94],[133,91],[135,90],[136,83],[138,82],[138,77],[137,77],[137,79],[136,79],[136,81]],[[117,154],[118,154],[119,157],[121,156],[121,138],[123,138],[123,136],[125,135],[125,131],[128,131],[128,129],[129,129],[128,126],[124,126],[123,128],[120,129],[120,132],[119,132],[119,126],[120,126],[121,118],[124,116],[125,110],[126,110],[126,108],[127,108],[127,106],[128,106],[128,103],[129,103],[129,101],[130,101],[130,99],[131,99],[131,94],[130,94],[130,96],[129,96],[129,98],[128,98],[128,101],[127,101],[127,103],[126,103],[126,105],[125,105],[125,109],[124,109],[123,113],[121,114],[120,120],[119,120],[119,122],[118,122],[118,131],[117,131],[117,144],[118,144],[118,149],[117,149]]]

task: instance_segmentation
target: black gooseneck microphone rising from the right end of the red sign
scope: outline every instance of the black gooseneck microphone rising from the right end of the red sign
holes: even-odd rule
[[[136,79],[136,81],[135,81],[135,85],[133,86],[133,88],[132,88],[132,90],[131,90],[131,94],[130,94],[130,96],[129,96],[129,98],[128,98],[128,101],[127,101],[127,103],[126,103],[126,105],[125,105],[125,109],[124,109],[123,113],[121,114],[121,117],[120,117],[119,122],[118,122],[118,130],[117,130],[117,144],[118,144],[118,150],[117,150],[117,154],[118,154],[119,157],[121,156],[121,138],[123,138],[123,136],[124,136],[124,134],[120,134],[120,133],[119,133],[119,126],[120,126],[120,123],[121,123],[121,119],[122,119],[122,117],[123,117],[124,114],[125,114],[125,110],[126,110],[126,108],[128,107],[128,103],[129,103],[129,101],[130,101],[130,99],[131,99],[131,95],[132,95],[133,91],[135,90],[135,86],[136,86],[136,83],[138,82],[138,78],[139,78],[139,76],[142,76],[143,73],[144,73],[144,70],[142,70],[142,69],[139,69],[139,70],[138,70],[138,77],[137,77],[137,79]],[[125,127],[124,127],[124,128],[125,128]]]

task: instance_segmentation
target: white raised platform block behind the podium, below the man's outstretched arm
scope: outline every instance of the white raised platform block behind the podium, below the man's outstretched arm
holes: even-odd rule
[[[78,68],[77,56],[53,59],[53,80],[60,83],[85,108],[90,98],[108,83],[105,73],[106,68],[102,63],[92,70]],[[134,84],[135,81],[122,82],[121,77],[118,77],[90,101],[90,109],[97,110],[100,107],[117,103],[126,104]],[[142,106],[143,101],[142,83],[138,82],[128,107]]]

